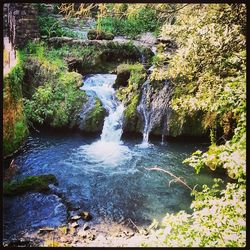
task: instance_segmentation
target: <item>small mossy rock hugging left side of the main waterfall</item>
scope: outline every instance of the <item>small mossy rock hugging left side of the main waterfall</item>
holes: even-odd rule
[[[98,132],[102,130],[104,118],[106,116],[106,110],[103,108],[101,101],[96,98],[95,106],[90,111],[85,120],[84,131],[86,132]]]

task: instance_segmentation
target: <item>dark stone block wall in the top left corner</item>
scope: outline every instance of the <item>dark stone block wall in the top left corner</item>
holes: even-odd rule
[[[23,47],[28,40],[39,38],[37,6],[32,3],[4,4],[5,34],[15,48]]]

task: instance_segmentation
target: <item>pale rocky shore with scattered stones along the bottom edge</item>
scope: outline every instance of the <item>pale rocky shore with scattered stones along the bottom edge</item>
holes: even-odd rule
[[[35,232],[23,232],[5,240],[5,246],[27,247],[139,247],[148,236],[137,232],[129,226],[116,223],[73,228],[70,224],[50,228],[41,228]],[[43,233],[41,233],[43,232]]]

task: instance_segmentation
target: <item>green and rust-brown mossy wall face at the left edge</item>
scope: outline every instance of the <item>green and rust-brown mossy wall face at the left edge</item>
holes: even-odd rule
[[[4,76],[3,89],[3,154],[16,151],[28,135],[22,101],[23,65],[17,51],[17,64]]]

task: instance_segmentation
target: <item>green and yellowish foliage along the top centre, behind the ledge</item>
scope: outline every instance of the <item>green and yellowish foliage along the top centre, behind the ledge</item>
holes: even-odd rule
[[[96,29],[126,35],[136,38],[143,32],[156,32],[163,22],[157,8],[152,4],[80,4],[76,9],[75,4],[61,4],[61,13],[66,18],[86,18],[94,15],[97,10]],[[158,5],[160,9],[160,5]],[[161,7],[162,8],[162,7]]]

